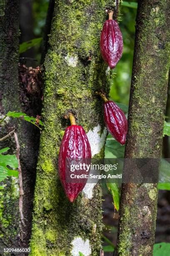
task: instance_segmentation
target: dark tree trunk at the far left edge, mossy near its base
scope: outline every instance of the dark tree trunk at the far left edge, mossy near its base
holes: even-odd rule
[[[18,93],[18,44],[19,44],[19,1],[4,1],[1,5],[4,13],[0,16],[0,115],[9,110],[19,110]],[[13,129],[14,122],[5,122],[0,127],[0,137]],[[11,138],[0,143],[0,148],[9,146],[15,151],[15,142]],[[10,179],[7,188],[0,197],[0,248],[18,245],[19,193],[18,180]]]

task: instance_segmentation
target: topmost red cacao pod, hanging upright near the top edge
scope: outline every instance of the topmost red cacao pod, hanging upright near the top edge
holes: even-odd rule
[[[103,60],[113,69],[120,60],[123,51],[123,39],[119,25],[115,20],[106,20],[101,36],[100,51]]]

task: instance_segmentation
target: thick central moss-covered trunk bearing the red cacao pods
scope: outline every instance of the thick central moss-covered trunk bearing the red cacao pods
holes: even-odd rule
[[[57,173],[57,158],[65,128],[63,118],[75,113],[90,141],[92,156],[103,158],[106,130],[102,102],[96,90],[109,92],[107,65],[99,41],[106,9],[113,1],[55,1],[49,48],[45,58],[45,128],[37,164],[31,255],[99,255],[102,192],[87,184],[75,203],[68,202]]]

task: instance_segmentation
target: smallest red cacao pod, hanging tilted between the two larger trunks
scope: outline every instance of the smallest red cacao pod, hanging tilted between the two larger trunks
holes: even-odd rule
[[[103,107],[107,130],[120,144],[124,145],[128,131],[128,122],[125,114],[112,100],[105,102]]]

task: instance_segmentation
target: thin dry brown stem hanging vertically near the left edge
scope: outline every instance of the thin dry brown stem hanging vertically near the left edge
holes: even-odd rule
[[[20,165],[20,144],[18,141],[18,136],[17,133],[14,132],[14,138],[15,138],[15,144],[16,144],[16,149],[17,149],[17,159],[18,159],[18,170],[19,170],[19,183],[20,183],[20,199],[19,199],[19,209],[20,209],[20,221],[25,226],[24,223],[24,217],[23,217],[23,179],[22,179],[22,170],[21,170],[21,165]]]

